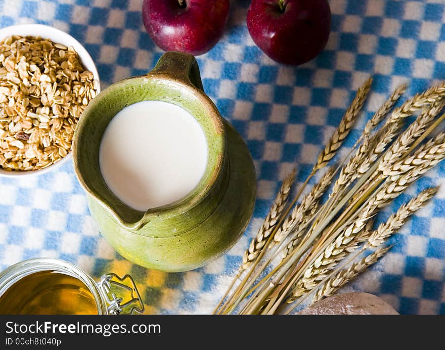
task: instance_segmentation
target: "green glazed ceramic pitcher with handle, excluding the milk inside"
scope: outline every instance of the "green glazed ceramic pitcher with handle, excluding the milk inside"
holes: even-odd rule
[[[133,103],[157,100],[184,108],[202,126],[208,158],[204,176],[185,198],[145,212],[122,203],[107,187],[99,147],[111,119]],[[256,192],[246,144],[204,93],[195,58],[167,52],[147,75],[102,91],[76,127],[73,159],[91,215],[106,240],[135,264],[167,272],[203,266],[231,248],[244,232]]]

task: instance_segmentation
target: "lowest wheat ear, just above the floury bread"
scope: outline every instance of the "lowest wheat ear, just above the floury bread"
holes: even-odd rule
[[[344,269],[335,274],[332,278],[326,281],[323,286],[316,292],[312,302],[316,302],[322,298],[331,296],[335,292],[343,287],[346,283],[359,276],[371,265],[377,263],[386,252],[391,249],[390,247],[378,248],[375,252],[361,259],[358,263],[352,264],[348,269]]]

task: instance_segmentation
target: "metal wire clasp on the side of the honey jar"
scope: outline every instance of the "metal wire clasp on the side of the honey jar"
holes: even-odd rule
[[[102,275],[98,287],[108,305],[109,314],[142,314],[144,312],[144,302],[130,275],[125,275],[123,278],[116,274]],[[124,301],[126,299],[128,300]],[[128,308],[130,308],[129,311],[126,310]]]

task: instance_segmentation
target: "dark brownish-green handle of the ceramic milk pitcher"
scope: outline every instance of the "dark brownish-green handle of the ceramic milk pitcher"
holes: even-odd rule
[[[195,57],[178,51],[164,53],[148,75],[165,74],[204,92]]]

